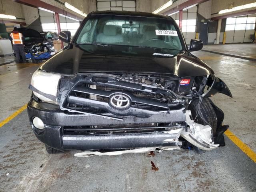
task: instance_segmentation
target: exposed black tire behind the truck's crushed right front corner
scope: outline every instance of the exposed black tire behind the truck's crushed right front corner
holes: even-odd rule
[[[198,100],[194,99],[188,106],[188,110],[191,111],[192,118],[194,119],[196,117],[196,105],[198,104]],[[217,116],[214,111],[214,108],[212,107],[212,104],[210,103],[209,98],[203,98],[200,110],[202,112],[202,116],[204,119],[210,124],[212,127],[212,133],[215,136],[216,134],[216,129],[217,129]],[[196,123],[202,124],[202,125],[207,125],[207,123],[202,120],[202,118],[198,115],[197,118],[195,119]]]

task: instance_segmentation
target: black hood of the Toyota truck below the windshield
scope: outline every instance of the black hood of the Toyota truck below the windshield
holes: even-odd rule
[[[44,62],[40,69],[69,75],[78,72],[138,72],[179,77],[214,74],[206,63],[188,52],[172,51],[167,56],[156,55],[155,52],[159,51],[152,48],[70,45]]]

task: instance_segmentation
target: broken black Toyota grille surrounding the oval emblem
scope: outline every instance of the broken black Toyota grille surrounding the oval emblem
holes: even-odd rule
[[[122,120],[123,116],[136,116],[138,118],[149,118],[154,114],[170,114],[170,110],[180,110],[182,105],[169,106],[173,94],[158,86],[152,86],[151,80],[146,78],[142,84],[122,80],[108,76],[76,76],[68,80],[60,80],[59,89],[68,91],[67,96],[60,103],[61,110],[78,112],[82,114],[94,114],[110,119]],[[150,85],[147,85],[147,84]],[[123,94],[128,97],[130,104],[122,108],[109,102],[115,94]],[[129,103],[129,102],[127,102]]]

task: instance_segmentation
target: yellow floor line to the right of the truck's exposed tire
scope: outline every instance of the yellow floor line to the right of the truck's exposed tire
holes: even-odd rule
[[[256,153],[251,150],[246,144],[244,144],[237,136],[230,130],[225,131],[225,135],[236,144],[251,160],[256,163]]]

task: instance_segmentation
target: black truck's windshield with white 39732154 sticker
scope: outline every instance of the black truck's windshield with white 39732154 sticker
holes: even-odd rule
[[[91,16],[78,35],[76,44],[182,50],[171,20],[138,16]]]

